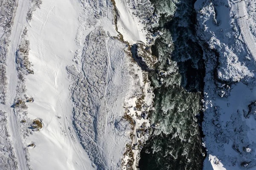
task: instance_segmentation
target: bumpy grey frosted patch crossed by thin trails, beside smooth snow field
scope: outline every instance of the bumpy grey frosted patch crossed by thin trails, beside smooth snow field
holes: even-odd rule
[[[118,169],[121,148],[130,140],[125,132],[131,126],[122,118],[122,103],[131,81],[125,48],[97,27],[86,37],[81,72],[67,67],[76,80],[70,86],[75,102],[74,125],[98,169]]]

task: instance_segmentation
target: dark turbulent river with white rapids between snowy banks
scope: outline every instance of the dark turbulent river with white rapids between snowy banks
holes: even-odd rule
[[[158,58],[149,73],[154,86],[151,122],[159,124],[140,153],[141,170],[201,170],[200,130],[204,88],[203,50],[195,32],[195,0],[151,0],[161,14],[163,35],[152,51]],[[202,113],[201,113],[202,114]]]

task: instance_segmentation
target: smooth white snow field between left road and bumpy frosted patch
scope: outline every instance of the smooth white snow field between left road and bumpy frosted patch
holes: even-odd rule
[[[34,74],[26,80],[26,94],[34,102],[29,118],[40,118],[43,128],[26,139],[32,169],[93,169],[79,144],[72,122],[66,66],[72,63],[76,46],[80,4],[75,0],[44,0],[28,26],[29,61]]]

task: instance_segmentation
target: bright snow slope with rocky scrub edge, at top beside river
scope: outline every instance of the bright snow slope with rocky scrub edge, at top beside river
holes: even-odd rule
[[[148,0],[114,0],[118,12],[116,28],[130,45],[152,43],[149,31],[157,25],[154,7]]]

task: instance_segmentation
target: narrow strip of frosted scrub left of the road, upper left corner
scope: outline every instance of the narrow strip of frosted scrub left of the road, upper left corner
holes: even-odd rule
[[[9,38],[12,31],[17,1],[0,0],[0,103],[6,100],[6,55],[8,54]]]

